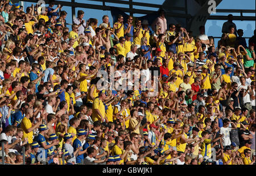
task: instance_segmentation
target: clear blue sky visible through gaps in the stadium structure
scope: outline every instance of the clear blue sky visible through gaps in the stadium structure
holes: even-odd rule
[[[71,0],[63,0],[67,2],[71,2]],[[129,1],[129,0],[123,0],[123,1]],[[153,4],[162,4],[164,0],[133,0],[134,2],[147,2],[147,3],[153,3]],[[190,0],[188,0],[190,1]],[[89,0],[75,0],[75,2],[79,3],[90,3],[94,5],[102,5],[102,2],[93,2]],[[26,9],[27,6],[30,6],[31,3],[24,2],[24,9]],[[105,3],[106,6],[117,6],[115,3]],[[47,5],[48,6],[48,5]],[[118,5],[118,7],[126,7],[129,8],[129,5]],[[135,9],[144,9],[144,10],[158,10],[153,7],[140,7],[140,6],[134,6]],[[217,9],[253,9],[255,10],[255,1],[254,0],[223,0],[220,5],[217,6]],[[71,14],[71,7],[63,7],[63,10],[67,11],[68,14]],[[110,11],[103,11],[103,10],[94,10],[94,9],[81,9],[76,8],[76,14],[78,10],[84,10],[85,15],[84,19],[89,18],[97,18],[98,24],[102,23],[102,16],[108,15],[110,16],[110,24],[112,25],[112,18],[111,18],[111,12]],[[217,13],[215,15],[228,15],[229,13]],[[240,15],[239,13],[232,13],[233,15]],[[212,14],[214,15],[214,14]],[[255,14],[243,14],[244,16],[255,16]],[[134,16],[142,16],[142,14],[134,14]],[[207,20],[207,23],[205,24],[205,33],[208,36],[221,36],[221,27],[222,24],[226,20]],[[72,16],[67,16],[67,23],[72,23]],[[234,21],[236,23],[237,29],[242,29],[244,31],[245,37],[253,36],[253,31],[255,29],[255,21]],[[216,39],[216,42],[219,39]]]

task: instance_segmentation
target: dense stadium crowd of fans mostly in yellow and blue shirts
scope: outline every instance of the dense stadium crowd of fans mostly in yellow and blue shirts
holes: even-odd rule
[[[1,1],[1,163],[255,165],[255,30],[54,7]]]

